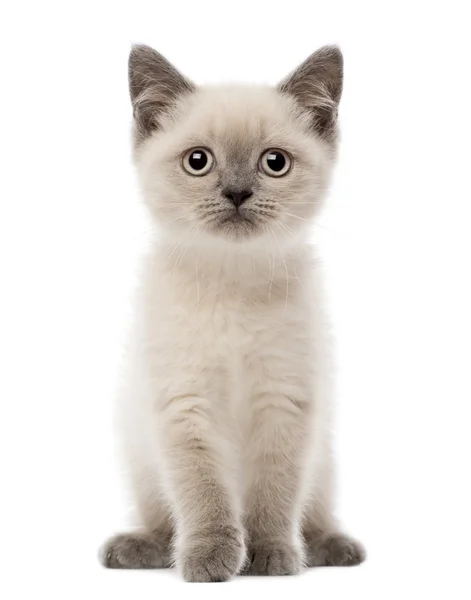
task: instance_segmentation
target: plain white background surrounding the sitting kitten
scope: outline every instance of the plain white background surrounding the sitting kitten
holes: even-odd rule
[[[2,2],[2,597],[471,597],[466,4]],[[369,553],[358,568],[190,588],[97,562],[126,527],[112,406],[149,231],[132,42],[197,83],[275,83],[324,43],[344,51],[340,161],[313,235],[337,334],[339,514]]]

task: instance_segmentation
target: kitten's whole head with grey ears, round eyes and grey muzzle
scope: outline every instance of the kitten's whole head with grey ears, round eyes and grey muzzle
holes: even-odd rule
[[[140,183],[165,232],[247,244],[306,228],[335,158],[338,48],[321,48],[277,87],[197,87],[135,46],[129,81]]]

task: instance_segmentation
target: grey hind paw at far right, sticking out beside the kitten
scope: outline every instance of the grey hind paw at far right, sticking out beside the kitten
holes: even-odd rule
[[[307,540],[308,566],[347,567],[359,565],[366,558],[363,546],[342,533],[330,533]]]

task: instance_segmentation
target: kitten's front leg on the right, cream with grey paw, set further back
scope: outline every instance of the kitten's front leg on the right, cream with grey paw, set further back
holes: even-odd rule
[[[266,373],[266,360],[264,366]],[[262,378],[250,402],[246,572],[255,575],[294,575],[304,563],[300,522],[311,420],[309,387],[289,383],[283,371],[275,369],[265,389]]]

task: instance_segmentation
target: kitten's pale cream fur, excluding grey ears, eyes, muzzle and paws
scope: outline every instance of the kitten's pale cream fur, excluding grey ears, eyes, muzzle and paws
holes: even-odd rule
[[[195,212],[208,194],[216,197],[217,174],[192,178],[179,160],[205,146],[227,169],[233,144],[255,157],[283,148],[294,161],[284,178],[257,175],[261,197],[276,199],[276,215],[237,239],[201,227]],[[319,265],[306,241],[332,149],[279,92],[210,88],[182,98],[136,162],[157,231],[121,403],[142,524],[149,531],[175,524],[183,570],[192,536],[215,519],[246,538],[286,536],[302,559],[302,527],[335,529],[329,353]],[[206,492],[206,480],[219,491]],[[273,511],[267,519],[265,503]],[[236,570],[244,557],[241,541]]]

